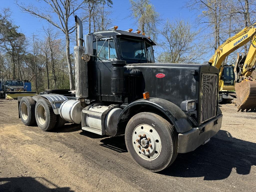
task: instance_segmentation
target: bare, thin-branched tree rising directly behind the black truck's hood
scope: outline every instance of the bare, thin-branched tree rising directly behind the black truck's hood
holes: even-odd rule
[[[202,62],[207,49],[199,41],[200,31],[193,31],[188,21],[167,20],[161,34],[164,41],[160,44],[165,51],[157,57],[159,62]]]

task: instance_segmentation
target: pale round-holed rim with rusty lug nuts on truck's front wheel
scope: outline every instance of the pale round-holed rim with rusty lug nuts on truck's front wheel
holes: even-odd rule
[[[135,127],[132,142],[136,153],[147,161],[153,161],[161,153],[161,139],[153,126],[140,124]]]

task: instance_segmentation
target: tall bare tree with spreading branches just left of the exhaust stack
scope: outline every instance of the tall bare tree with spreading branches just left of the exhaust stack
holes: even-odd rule
[[[70,37],[69,35],[76,30],[75,24],[69,24],[69,18],[74,16],[84,3],[84,0],[41,0],[48,6],[38,9],[33,4],[26,5],[16,1],[16,5],[25,13],[29,13],[35,17],[45,19],[53,26],[61,30],[66,37],[66,57],[69,69],[70,89],[74,89],[74,80],[72,73],[72,64],[70,59]],[[55,21],[54,18],[58,18]],[[73,21],[72,21],[73,22]],[[73,22],[74,23],[74,22]]]

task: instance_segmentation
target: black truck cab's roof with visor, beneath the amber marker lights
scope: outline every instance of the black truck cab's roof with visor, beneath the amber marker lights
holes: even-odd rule
[[[117,35],[140,37],[140,38],[144,38],[145,40],[147,40],[151,45],[156,45],[154,41],[152,41],[150,38],[148,38],[145,35],[138,34],[138,33],[133,33],[133,32],[122,31],[122,30],[109,29],[109,30],[93,32],[92,34],[93,35],[102,35],[102,36],[105,36],[105,37],[117,36]]]

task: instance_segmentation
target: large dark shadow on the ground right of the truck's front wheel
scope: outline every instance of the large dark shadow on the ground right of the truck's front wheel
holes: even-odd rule
[[[256,165],[256,143],[243,141],[220,130],[211,140],[195,151],[178,154],[167,169],[159,172],[174,177],[204,177],[204,180],[221,180],[233,171],[247,175]]]

